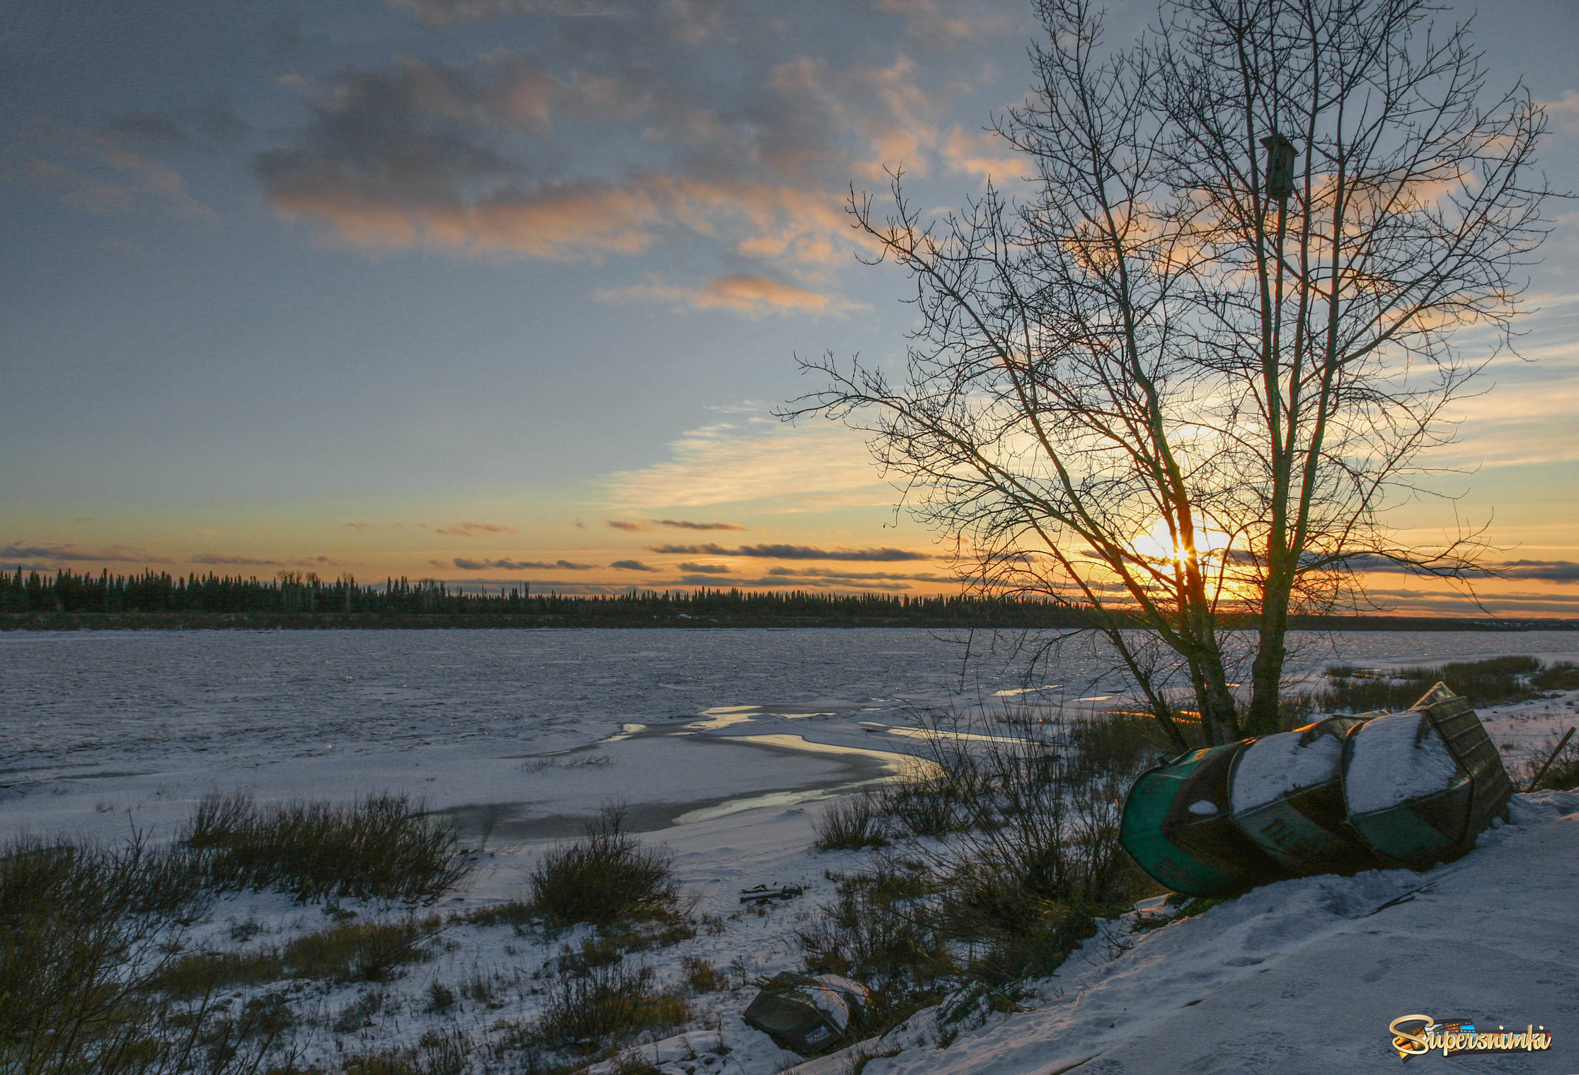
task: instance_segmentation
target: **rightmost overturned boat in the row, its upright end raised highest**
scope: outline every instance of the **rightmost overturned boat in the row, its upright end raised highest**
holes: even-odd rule
[[[1513,783],[1480,717],[1445,684],[1405,712],[1420,714],[1420,736],[1429,725],[1442,737],[1456,773],[1440,791],[1380,810],[1350,811],[1348,824],[1385,865],[1427,870],[1468,852],[1494,819],[1506,819]],[[1345,791],[1356,742],[1356,729],[1350,729],[1344,742]]]

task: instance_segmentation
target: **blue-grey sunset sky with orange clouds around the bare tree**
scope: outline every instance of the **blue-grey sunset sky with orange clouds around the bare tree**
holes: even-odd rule
[[[1110,5],[1115,39],[1154,14]],[[1473,14],[1453,8],[1445,17]],[[1020,0],[9,0],[0,8],[0,567],[469,589],[952,592],[796,357],[900,366],[906,281],[851,189],[1023,166]],[[1579,5],[1476,21],[1579,188]],[[1502,616],[1579,616],[1579,204],[1522,357],[1429,461]],[[1375,576],[1399,612],[1475,612]]]

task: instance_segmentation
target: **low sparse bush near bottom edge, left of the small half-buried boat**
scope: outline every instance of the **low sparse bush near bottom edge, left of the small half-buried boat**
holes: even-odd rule
[[[548,990],[537,1036],[543,1045],[591,1053],[643,1031],[662,1037],[690,1018],[685,1001],[654,988],[651,968],[621,963],[561,974]]]

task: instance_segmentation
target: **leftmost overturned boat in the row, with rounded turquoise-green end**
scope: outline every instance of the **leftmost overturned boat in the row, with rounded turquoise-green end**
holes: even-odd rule
[[[1249,742],[1186,751],[1143,772],[1124,799],[1120,843],[1175,892],[1224,895],[1293,876],[1228,810],[1228,772]]]

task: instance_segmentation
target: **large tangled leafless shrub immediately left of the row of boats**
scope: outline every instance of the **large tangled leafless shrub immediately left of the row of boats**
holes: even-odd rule
[[[1071,728],[927,717],[922,728],[927,769],[891,792],[921,822],[892,822],[894,845],[838,878],[799,933],[807,969],[873,990],[873,1026],[946,983],[1006,996],[1056,969],[1097,917],[1154,890],[1118,843],[1124,789],[1168,751],[1150,717]]]

